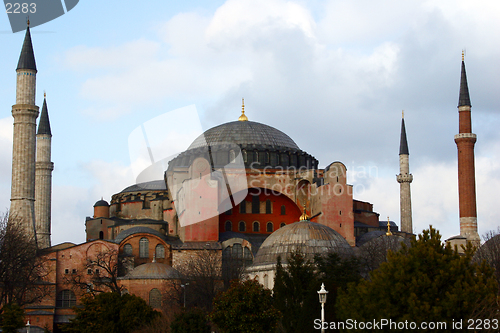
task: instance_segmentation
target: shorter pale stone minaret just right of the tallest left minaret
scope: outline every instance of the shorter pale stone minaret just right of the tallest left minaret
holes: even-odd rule
[[[50,161],[52,133],[50,131],[47,97],[43,94],[42,113],[36,134],[35,221],[38,248],[50,247],[50,219],[52,200],[52,170]]]

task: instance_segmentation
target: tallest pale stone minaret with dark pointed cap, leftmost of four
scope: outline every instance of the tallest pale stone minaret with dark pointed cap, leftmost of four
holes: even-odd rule
[[[17,64],[16,104],[12,106],[14,138],[12,149],[12,187],[10,221],[22,223],[30,236],[35,236],[35,105],[36,63],[28,27]]]

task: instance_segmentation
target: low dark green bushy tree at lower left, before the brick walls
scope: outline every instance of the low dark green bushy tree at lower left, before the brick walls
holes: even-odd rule
[[[72,333],[128,333],[149,324],[159,313],[142,298],[118,293],[101,293],[82,300],[75,307],[76,318],[63,327]]]

